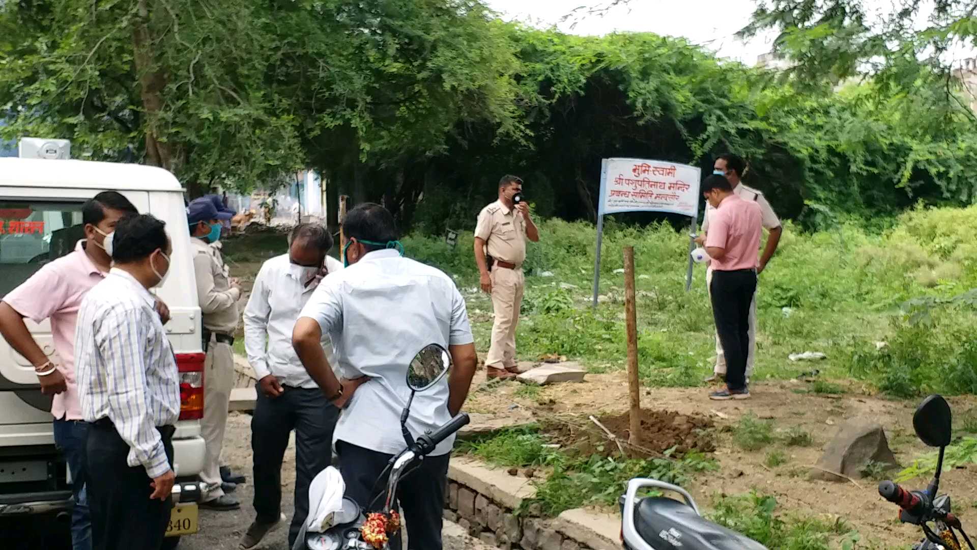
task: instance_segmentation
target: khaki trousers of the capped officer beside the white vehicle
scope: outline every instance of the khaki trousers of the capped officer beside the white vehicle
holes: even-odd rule
[[[219,343],[211,337],[203,363],[203,418],[200,420],[200,436],[204,442],[200,481],[207,485],[204,502],[224,495],[221,488],[221,448],[228,426],[228,404],[233,387],[234,350],[231,345]]]

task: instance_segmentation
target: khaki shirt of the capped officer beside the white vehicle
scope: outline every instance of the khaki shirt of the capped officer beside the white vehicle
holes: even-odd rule
[[[208,245],[202,239],[192,238],[193,275],[196,278],[196,298],[203,314],[203,328],[208,331],[234,336],[240,316],[237,299],[241,293],[231,288],[230,269],[221,256],[220,243]]]

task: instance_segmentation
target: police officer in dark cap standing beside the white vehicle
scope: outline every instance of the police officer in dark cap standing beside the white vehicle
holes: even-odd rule
[[[218,241],[224,219],[230,219],[230,214],[219,211],[209,197],[195,199],[187,206],[196,296],[202,313],[203,347],[207,353],[203,373],[203,418],[200,420],[200,435],[205,444],[200,481],[207,485],[207,489],[200,507],[211,510],[240,508],[237,499],[225,494],[220,472],[228,402],[234,387],[232,344],[240,319],[237,300],[241,296],[240,287],[229,276],[228,266],[221,256]]]

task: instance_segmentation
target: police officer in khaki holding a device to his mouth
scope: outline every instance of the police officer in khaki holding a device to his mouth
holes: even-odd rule
[[[522,179],[502,176],[498,201],[482,208],[475,226],[475,262],[481,273],[482,290],[491,295],[495,312],[486,357],[488,378],[516,376],[516,325],[526,284],[526,239],[539,241],[530,208],[520,200],[522,192]]]

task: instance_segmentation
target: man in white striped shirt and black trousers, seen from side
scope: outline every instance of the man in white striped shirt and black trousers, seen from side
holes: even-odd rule
[[[169,520],[180,388],[149,289],[165,278],[171,252],[162,221],[123,218],[112,243],[114,267],[78,311],[75,364],[89,423],[94,550],[158,550]]]

